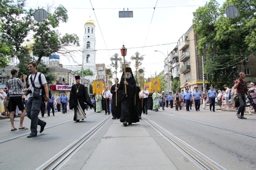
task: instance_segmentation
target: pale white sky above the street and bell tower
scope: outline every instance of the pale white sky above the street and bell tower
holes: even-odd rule
[[[224,1],[218,0],[220,5]],[[69,20],[61,24],[59,31],[62,34],[76,33],[81,47],[84,24],[91,16],[96,25],[96,64],[110,65],[109,58],[115,53],[121,56],[124,43],[128,49],[126,60],[131,62],[133,71],[135,61],[130,57],[135,56],[136,51],[145,55],[141,67],[145,68],[146,76],[163,70],[165,56],[154,50],[167,56],[167,51],[176,46],[178,39],[192,25],[192,12],[205,3],[205,0],[27,0],[27,6],[32,8],[64,5]],[[133,11],[133,18],[119,18],[118,12],[123,8]],[[76,58],[81,64],[82,56]],[[67,59],[62,58],[61,62],[70,65]]]

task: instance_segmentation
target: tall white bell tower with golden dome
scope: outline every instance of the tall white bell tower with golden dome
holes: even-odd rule
[[[95,24],[90,19],[84,25],[84,37],[83,37],[83,68],[90,69],[96,74],[96,49],[95,49]],[[84,76],[91,82],[95,79],[95,76]]]

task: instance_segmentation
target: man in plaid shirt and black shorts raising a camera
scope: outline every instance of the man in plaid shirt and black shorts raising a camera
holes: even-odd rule
[[[27,75],[22,75],[21,79],[17,78],[18,71],[15,69],[11,70],[12,77],[9,79],[8,84],[10,87],[10,99],[8,103],[8,110],[10,112],[10,121],[11,121],[11,131],[17,130],[14,126],[14,114],[16,107],[18,106],[19,110],[22,111],[20,115],[20,126],[19,129],[28,129],[27,127],[23,126],[23,121],[25,117],[25,107],[22,100],[22,88],[26,86],[26,78]],[[22,81],[23,80],[23,81]]]

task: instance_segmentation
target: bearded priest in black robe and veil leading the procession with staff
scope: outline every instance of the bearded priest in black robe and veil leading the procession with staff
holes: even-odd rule
[[[126,81],[125,81],[126,76]],[[127,87],[127,93],[125,92]],[[118,101],[121,102],[121,118],[120,121],[123,125],[135,123],[139,121],[136,111],[136,93],[137,86],[132,74],[131,68],[126,68],[123,72],[120,85],[118,88]]]

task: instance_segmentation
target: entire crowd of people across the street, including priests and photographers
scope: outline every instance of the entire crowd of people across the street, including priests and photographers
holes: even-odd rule
[[[39,119],[38,115],[41,111],[41,116],[47,113],[50,116],[52,112],[61,112],[65,114],[69,109],[74,110],[73,120],[79,122],[86,119],[85,110],[94,108],[96,113],[105,110],[105,115],[112,113],[112,119],[120,119],[124,126],[139,122],[141,115],[148,114],[148,110],[158,112],[160,107],[173,108],[175,111],[185,109],[192,110],[194,105],[195,111],[200,111],[200,105],[203,104],[203,109],[206,109],[206,103],[209,101],[210,111],[215,112],[215,102],[217,105],[226,109],[237,109],[236,116],[239,119],[246,119],[245,106],[250,105],[249,114],[252,114],[254,109],[252,102],[246,100],[246,93],[248,93],[254,103],[256,103],[256,88],[254,83],[250,86],[244,80],[245,74],[239,73],[239,79],[235,80],[234,86],[229,89],[224,85],[225,90],[216,90],[213,85],[210,85],[210,90],[207,93],[200,93],[198,87],[194,87],[193,92],[189,88],[184,90],[176,90],[174,94],[170,92],[168,95],[164,91],[160,93],[153,90],[150,93],[147,86],[142,90],[137,86],[131,68],[126,68],[123,72],[120,83],[119,79],[115,78],[115,84],[108,90],[106,86],[102,93],[98,93],[95,97],[90,97],[88,89],[80,83],[80,76],[75,76],[76,83],[72,85],[70,97],[68,98],[63,92],[57,98],[54,95],[49,97],[49,89],[44,74],[36,71],[37,64],[35,62],[28,63],[30,88],[23,91],[26,87],[27,75],[22,75],[18,78],[18,71],[13,69],[11,71],[12,77],[8,81],[9,89],[0,89],[0,112],[2,115],[9,115],[11,121],[11,131],[17,130],[14,125],[14,118],[16,114],[20,114],[20,124],[18,129],[27,130],[29,128],[23,126],[25,114],[31,119],[31,134],[28,138],[37,136],[37,125],[40,126],[40,133],[43,132],[46,125],[45,121]],[[40,78],[38,78],[40,76]],[[39,80],[40,79],[40,80]],[[248,89],[247,89],[248,88]],[[42,91],[43,89],[43,91]],[[45,98],[42,97],[43,92]],[[38,95],[38,96],[37,96]],[[229,102],[230,100],[230,102]],[[249,104],[248,104],[249,103]]]

